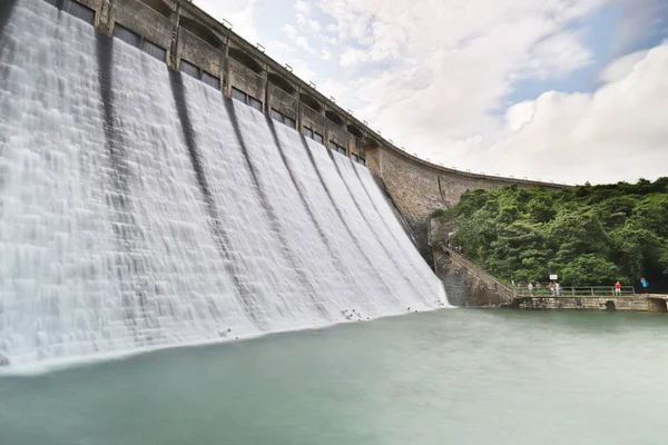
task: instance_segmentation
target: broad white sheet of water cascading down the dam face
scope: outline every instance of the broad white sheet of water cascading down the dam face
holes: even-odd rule
[[[444,303],[371,174],[42,0],[0,12],[0,362]]]

